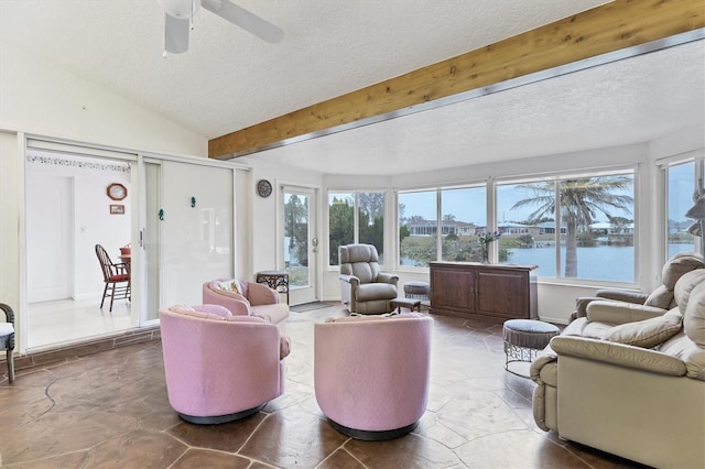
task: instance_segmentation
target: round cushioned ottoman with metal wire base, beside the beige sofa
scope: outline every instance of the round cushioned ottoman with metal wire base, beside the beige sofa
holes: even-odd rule
[[[509,363],[523,361],[531,362],[539,350],[543,350],[552,337],[561,334],[561,329],[553,324],[535,319],[509,319],[502,327],[505,339],[505,370],[519,377],[528,378],[528,374],[518,373],[509,368]]]

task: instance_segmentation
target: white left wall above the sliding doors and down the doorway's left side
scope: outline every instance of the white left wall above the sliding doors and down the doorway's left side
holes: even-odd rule
[[[18,305],[25,302],[20,279],[26,274],[25,134],[194,157],[205,157],[208,148],[204,137],[9,41],[0,42],[0,302],[18,313],[18,329],[24,327]],[[17,335],[19,349],[21,337]]]

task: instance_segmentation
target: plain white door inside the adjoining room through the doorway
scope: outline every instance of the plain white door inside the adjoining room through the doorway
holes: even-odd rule
[[[26,185],[28,302],[73,295],[73,181],[31,176]]]

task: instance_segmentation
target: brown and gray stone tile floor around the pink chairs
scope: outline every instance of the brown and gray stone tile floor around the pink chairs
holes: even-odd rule
[[[627,468],[560,440],[532,419],[534,384],[503,370],[501,325],[434,316],[429,407],[390,441],[350,439],[313,389],[313,324],[336,304],[292,313],[286,391],[224,425],[182,422],[169,406],[160,342],[21,370],[0,382],[0,466],[8,468]],[[403,395],[399,396],[403,399]]]

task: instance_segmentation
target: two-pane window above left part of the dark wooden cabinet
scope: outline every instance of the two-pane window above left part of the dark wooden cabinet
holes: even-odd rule
[[[479,261],[477,236],[487,225],[486,194],[485,186],[399,193],[399,264]]]

